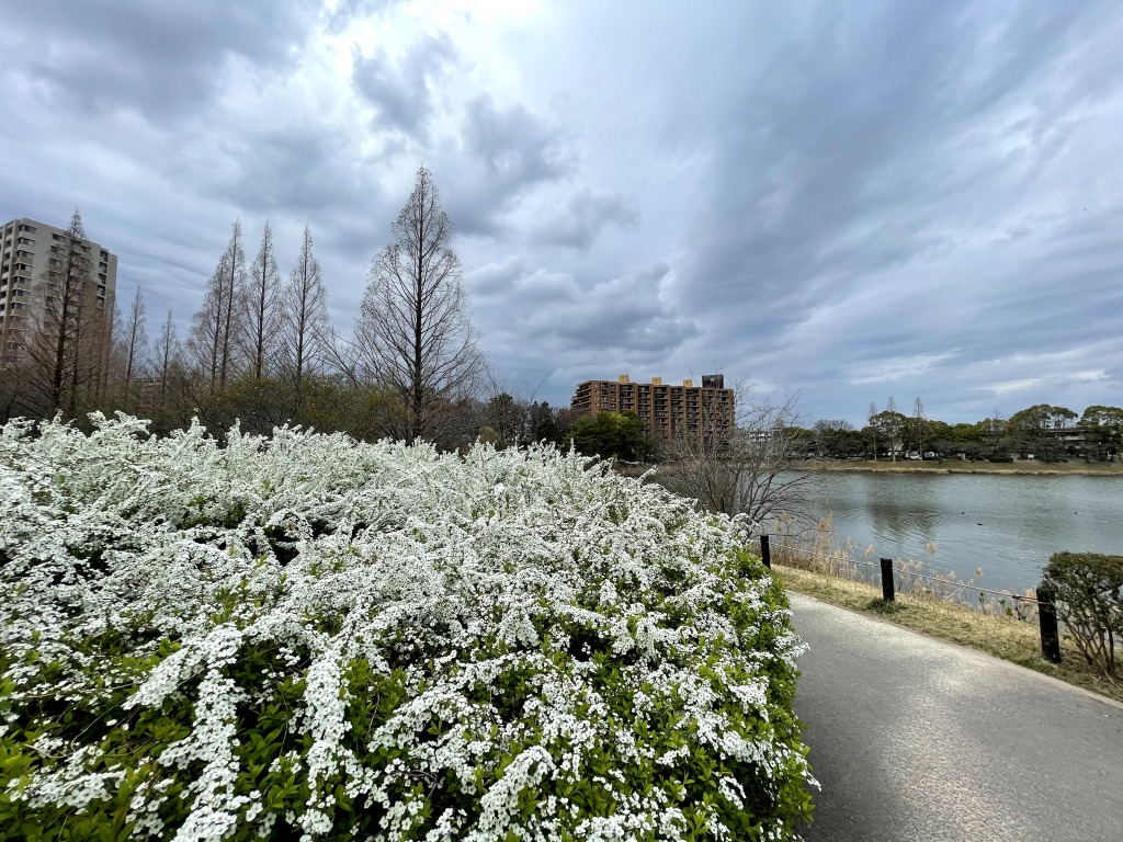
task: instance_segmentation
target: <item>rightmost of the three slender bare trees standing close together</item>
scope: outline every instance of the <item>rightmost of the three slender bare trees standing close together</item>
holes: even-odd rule
[[[320,264],[312,254],[312,232],[305,226],[296,265],[281,293],[282,367],[292,379],[298,402],[304,382],[322,370],[328,357],[331,322],[327,299]]]

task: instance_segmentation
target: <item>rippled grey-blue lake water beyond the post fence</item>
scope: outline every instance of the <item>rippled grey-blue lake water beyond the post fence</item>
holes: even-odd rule
[[[858,555],[921,561],[982,587],[1035,587],[1061,550],[1123,555],[1123,477],[816,474],[816,514]],[[928,544],[934,544],[930,552]]]

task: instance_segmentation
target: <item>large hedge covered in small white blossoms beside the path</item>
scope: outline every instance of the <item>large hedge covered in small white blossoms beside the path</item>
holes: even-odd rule
[[[740,524],[553,449],[0,436],[8,839],[789,839]]]

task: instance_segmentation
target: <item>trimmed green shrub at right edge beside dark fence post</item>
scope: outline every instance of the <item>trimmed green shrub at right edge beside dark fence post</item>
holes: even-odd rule
[[[1115,641],[1123,637],[1123,556],[1057,552],[1041,579],[1057,616],[1088,663],[1115,672]]]

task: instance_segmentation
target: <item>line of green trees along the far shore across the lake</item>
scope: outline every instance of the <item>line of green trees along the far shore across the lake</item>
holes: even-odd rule
[[[975,423],[929,419],[917,397],[913,412],[898,412],[893,399],[884,410],[870,404],[867,423],[821,420],[796,433],[809,457],[827,459],[1012,458],[1061,461],[1114,459],[1123,445],[1123,409],[1035,404],[1010,418],[995,413]]]

